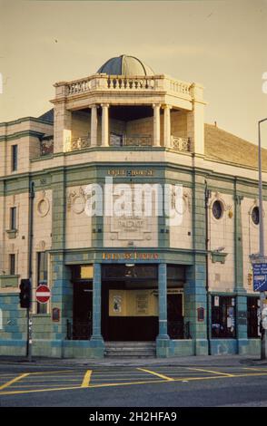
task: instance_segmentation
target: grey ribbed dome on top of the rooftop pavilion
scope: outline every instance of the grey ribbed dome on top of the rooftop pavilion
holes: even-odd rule
[[[153,70],[140,59],[126,54],[109,59],[99,68],[97,73],[126,76],[154,74]]]

